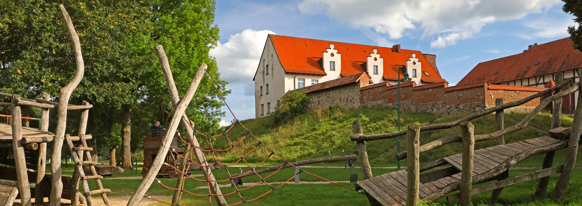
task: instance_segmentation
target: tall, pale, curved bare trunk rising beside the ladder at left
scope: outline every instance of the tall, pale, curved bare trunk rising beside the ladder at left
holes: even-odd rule
[[[74,56],[76,61],[76,71],[73,79],[65,87],[61,88],[61,95],[59,95],[58,105],[58,120],[56,122],[55,140],[53,144],[53,152],[51,157],[51,172],[52,172],[52,189],[51,189],[51,206],[61,205],[61,195],[63,191],[63,183],[61,182],[61,148],[63,147],[63,138],[65,138],[65,127],[67,122],[67,107],[69,98],[74,89],[79,85],[83,74],[85,72],[85,63],[83,62],[83,54],[81,53],[81,44],[79,42],[79,35],[74,30],[73,22],[66,11],[65,6],[59,5],[65,25],[69,31],[70,39],[73,41]]]

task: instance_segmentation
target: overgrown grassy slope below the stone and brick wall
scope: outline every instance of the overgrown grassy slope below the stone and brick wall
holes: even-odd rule
[[[406,128],[409,124],[431,125],[435,123],[451,122],[468,115],[435,115],[431,113],[403,112],[401,115],[401,128]],[[505,127],[519,123],[526,113],[506,113]],[[299,161],[303,159],[328,157],[343,155],[345,153],[354,154],[355,143],[349,140],[352,131],[352,122],[361,120],[364,134],[379,134],[395,132],[397,128],[397,113],[395,109],[389,108],[354,108],[354,109],[325,109],[308,111],[298,116],[289,123],[274,126],[273,116],[265,118],[243,120],[242,123],[247,129],[257,136],[262,143],[288,161]],[[489,114],[471,121],[475,125],[475,134],[486,134],[494,132],[495,115]],[[518,132],[505,136],[506,143],[526,140],[528,138],[540,137],[547,134],[551,125],[551,114],[540,113],[531,123]],[[572,126],[572,118],[562,117],[562,126]],[[225,127],[228,129],[228,127]],[[240,125],[235,125],[227,134],[233,142],[240,140],[246,133]],[[441,137],[449,135],[460,135],[459,127],[445,130],[425,131],[420,134],[421,144],[428,143]],[[402,151],[406,151],[406,138],[402,138]],[[224,137],[217,137],[214,141],[214,148],[226,148],[230,143]],[[397,153],[396,138],[388,140],[368,141],[368,157],[372,166],[395,166],[394,158]],[[495,144],[495,140],[481,141],[475,145],[478,148],[490,147]],[[241,154],[246,154],[257,145],[257,140],[252,136],[246,137],[236,148]],[[210,145],[204,145],[208,148]],[[461,152],[460,143],[444,145],[433,150],[421,153],[421,162],[434,161],[449,155]],[[270,152],[259,146],[245,158],[248,162],[257,164],[268,157]],[[555,164],[563,162],[564,151],[556,152]],[[210,157],[209,157],[210,158]],[[239,159],[236,151],[217,152],[217,158],[222,162],[234,162]],[[213,158],[210,158],[213,159]],[[518,166],[541,166],[543,154],[526,159]],[[244,162],[240,162],[243,163]],[[269,158],[266,164],[281,164],[275,156]],[[343,163],[336,163],[342,165]],[[402,161],[406,164],[406,161]]]

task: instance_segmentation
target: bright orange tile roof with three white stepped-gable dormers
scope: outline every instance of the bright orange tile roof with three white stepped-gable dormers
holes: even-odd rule
[[[333,44],[334,49],[337,49],[338,53],[342,55],[342,68],[340,70],[342,76],[363,73],[362,63],[366,61],[367,56],[370,56],[372,49],[378,49],[377,53],[381,58],[384,58],[385,79],[398,79],[398,65],[406,64],[410,55],[414,53],[418,61],[422,62],[421,69],[430,74],[430,76],[423,74],[421,79],[424,82],[444,81],[420,51],[400,49],[400,53],[398,53],[388,47],[313,40],[274,34],[269,34],[269,38],[273,42],[283,69],[289,73],[326,75],[318,60],[322,58],[322,52],[325,52],[325,49],[329,48],[329,44]]]

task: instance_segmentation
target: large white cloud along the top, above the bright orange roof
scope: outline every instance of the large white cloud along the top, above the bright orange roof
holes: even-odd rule
[[[303,14],[325,12],[339,22],[388,34],[391,39],[422,30],[422,37],[438,35],[431,47],[443,48],[472,38],[487,24],[520,19],[558,3],[559,0],[304,0],[299,9]]]

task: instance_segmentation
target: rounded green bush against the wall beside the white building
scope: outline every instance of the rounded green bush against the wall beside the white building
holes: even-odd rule
[[[288,122],[296,116],[305,113],[311,104],[311,100],[301,91],[293,90],[281,97],[281,102],[275,106],[275,124]]]

